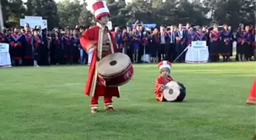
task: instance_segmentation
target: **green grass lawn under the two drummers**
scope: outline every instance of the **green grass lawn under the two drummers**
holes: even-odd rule
[[[0,140],[250,140],[256,106],[245,105],[256,63],[173,64],[182,103],[155,101],[156,64],[135,65],[114,98],[118,112],[91,114],[88,67],[0,69]]]

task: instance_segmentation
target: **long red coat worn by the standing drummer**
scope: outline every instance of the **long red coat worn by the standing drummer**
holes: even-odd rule
[[[82,36],[80,38],[80,42],[82,44],[82,47],[85,48],[85,50],[88,51],[91,47],[91,42],[95,42],[97,46],[98,45],[98,36],[100,33],[101,27],[100,26],[93,26],[90,29],[86,30],[84,33],[82,33]],[[109,32],[108,32],[109,33]],[[113,36],[111,36],[110,42],[113,44],[113,50],[114,52],[117,52],[117,45],[115,42],[115,39]],[[98,56],[98,48],[94,49],[92,58],[91,58],[91,65],[90,70],[88,74],[88,80],[86,82],[85,86],[85,95],[91,95],[91,96],[107,96],[112,97],[115,96],[117,98],[120,97],[120,92],[117,87],[106,87],[101,86],[97,84],[97,80],[95,80],[95,76],[98,76],[97,73],[97,56]],[[95,75],[97,74],[97,75]]]

